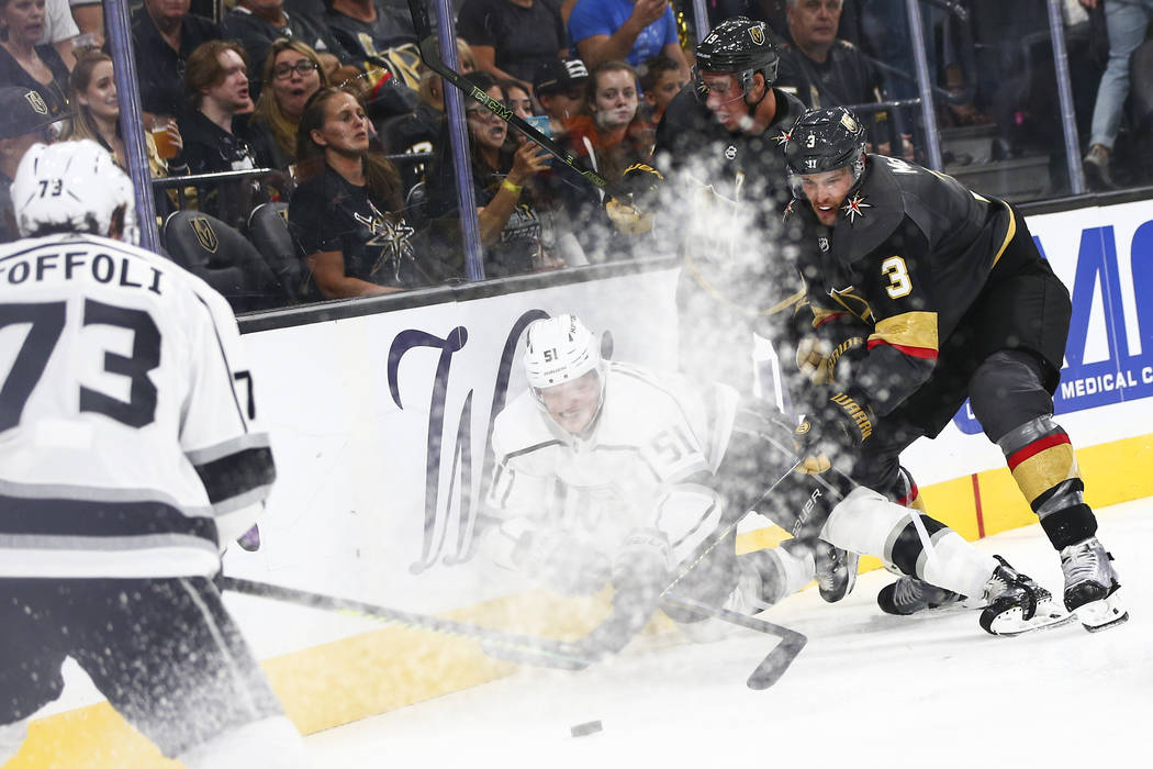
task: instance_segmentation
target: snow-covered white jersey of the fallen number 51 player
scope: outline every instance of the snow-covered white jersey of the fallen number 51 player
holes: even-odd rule
[[[591,433],[553,422],[532,392],[496,419],[497,457],[489,512],[503,520],[504,546],[526,530],[563,529],[609,555],[636,529],[669,538],[684,560],[721,520],[709,485],[724,455],[737,395],[700,391],[676,375],[605,365],[604,405]],[[502,545],[493,557],[507,563]]]

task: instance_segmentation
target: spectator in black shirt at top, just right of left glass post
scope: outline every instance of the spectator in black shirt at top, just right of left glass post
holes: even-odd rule
[[[151,115],[184,113],[184,62],[202,43],[218,40],[217,24],[188,13],[191,0],[144,0],[133,16],[133,48],[140,62],[141,108]]]

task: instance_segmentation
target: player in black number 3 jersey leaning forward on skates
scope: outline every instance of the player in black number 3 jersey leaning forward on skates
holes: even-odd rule
[[[789,218],[802,226],[799,317],[837,350],[823,363],[827,398],[802,425],[809,443],[854,447],[842,453],[854,480],[884,488],[898,454],[935,437],[967,397],[1061,553],[1065,606],[1091,631],[1128,619],[1053,419],[1069,293],[1024,219],[949,176],[866,154],[844,108],[805,114],[784,154],[797,196]],[[845,339],[835,331],[843,318],[867,334]]]

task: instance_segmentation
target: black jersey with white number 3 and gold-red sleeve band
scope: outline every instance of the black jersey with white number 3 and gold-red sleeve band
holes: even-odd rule
[[[867,156],[861,183],[834,227],[821,225],[804,201],[790,205],[789,218],[802,223],[811,327],[851,315],[869,329],[852,380],[880,415],[928,380],[984,292],[1041,266],[1035,248],[1016,249],[1012,265],[1001,263],[1017,231],[1007,203],[897,158]]]

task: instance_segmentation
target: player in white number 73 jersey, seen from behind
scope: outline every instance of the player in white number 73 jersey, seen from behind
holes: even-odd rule
[[[33,146],[12,196],[0,764],[73,657],[190,769],[307,766],[212,582],[276,476],[228,304],[133,244],[131,183],[95,142]]]

